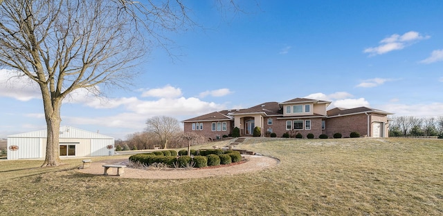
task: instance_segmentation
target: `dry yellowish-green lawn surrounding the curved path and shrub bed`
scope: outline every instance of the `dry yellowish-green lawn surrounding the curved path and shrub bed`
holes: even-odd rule
[[[205,179],[93,176],[75,170],[82,159],[57,168],[1,160],[0,215],[443,215],[443,140],[269,140],[239,148],[278,157],[275,168]]]

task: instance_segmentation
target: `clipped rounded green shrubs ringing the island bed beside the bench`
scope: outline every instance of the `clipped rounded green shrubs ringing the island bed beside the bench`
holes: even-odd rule
[[[166,152],[166,151],[161,151]],[[215,150],[200,150],[199,153],[203,153],[204,155],[197,155],[193,158],[187,155],[181,155],[180,157],[168,155],[168,153],[163,153],[160,155],[159,152],[154,153],[142,153],[137,155],[132,155],[129,157],[129,160],[132,162],[140,162],[141,164],[145,164],[146,166],[150,166],[154,163],[165,164],[169,167],[178,166],[178,167],[188,167],[191,164],[191,161],[194,164],[194,167],[200,168],[205,166],[218,166],[220,164],[230,164],[235,163],[242,160],[242,155],[238,151],[235,150],[226,150],[221,152],[219,149]],[[179,155],[180,155],[179,151]],[[219,153],[219,154],[209,154],[209,153]],[[166,156],[168,155],[168,156]]]

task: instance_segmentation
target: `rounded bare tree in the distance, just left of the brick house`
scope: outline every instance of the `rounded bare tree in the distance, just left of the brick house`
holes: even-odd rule
[[[146,131],[153,132],[159,139],[163,148],[168,148],[168,141],[181,132],[180,123],[173,117],[156,116],[146,121]]]

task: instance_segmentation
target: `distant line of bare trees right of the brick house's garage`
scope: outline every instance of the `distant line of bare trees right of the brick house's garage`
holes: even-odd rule
[[[394,117],[389,123],[389,137],[437,136],[443,138],[443,116],[440,117]]]

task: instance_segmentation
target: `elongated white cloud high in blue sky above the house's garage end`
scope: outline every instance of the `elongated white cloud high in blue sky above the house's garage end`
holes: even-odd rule
[[[382,55],[386,52],[391,52],[393,50],[401,50],[406,46],[410,46],[415,41],[428,39],[430,36],[420,35],[419,32],[410,31],[404,33],[404,35],[391,35],[390,37],[386,37],[382,39],[379,43],[380,46],[366,48],[363,50],[364,53],[369,53],[370,56],[374,55]]]

